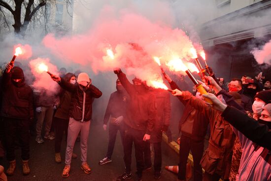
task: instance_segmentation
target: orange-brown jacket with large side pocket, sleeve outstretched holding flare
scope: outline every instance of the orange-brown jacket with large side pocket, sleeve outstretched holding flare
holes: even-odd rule
[[[218,174],[222,179],[228,179],[235,141],[230,124],[223,119],[219,111],[207,107],[203,100],[192,96],[188,91],[182,93],[181,99],[209,118],[211,135],[201,160],[202,168],[209,174]]]

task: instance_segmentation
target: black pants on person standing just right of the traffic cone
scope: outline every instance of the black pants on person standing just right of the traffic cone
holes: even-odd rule
[[[194,181],[202,181],[203,179],[203,171],[200,165],[202,156],[203,156],[203,147],[204,147],[204,139],[202,141],[195,141],[191,138],[182,135],[180,140],[180,151],[179,151],[179,173],[178,179],[185,180],[186,174],[186,163],[189,155],[189,151],[191,150],[193,155],[193,176]]]

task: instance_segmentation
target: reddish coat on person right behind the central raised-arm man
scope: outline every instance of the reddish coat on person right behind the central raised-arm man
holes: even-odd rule
[[[154,89],[152,91],[156,97],[156,119],[154,129],[151,133],[150,143],[162,142],[163,127],[169,127],[170,121],[170,97],[169,92],[163,89]]]

